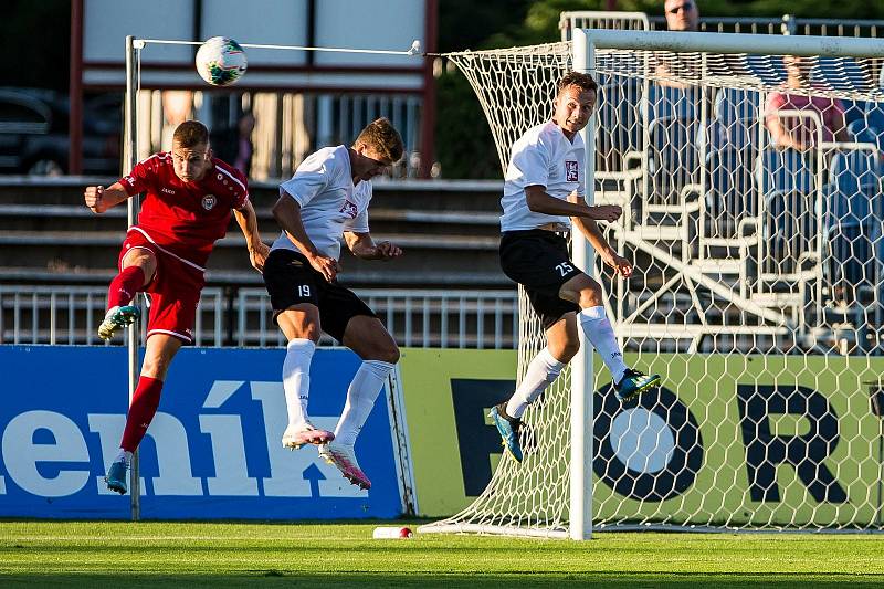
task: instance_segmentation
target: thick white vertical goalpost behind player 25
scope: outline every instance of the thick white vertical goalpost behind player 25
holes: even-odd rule
[[[582,29],[573,31],[573,70],[596,76],[596,51],[592,40]],[[590,207],[596,198],[596,115],[580,132],[586,145],[585,182],[586,201]],[[588,275],[594,267],[594,252],[580,231],[571,231],[573,262]],[[592,347],[578,329],[580,350],[571,360],[571,488],[568,511],[569,533],[572,540],[592,537],[592,425],[594,371]]]

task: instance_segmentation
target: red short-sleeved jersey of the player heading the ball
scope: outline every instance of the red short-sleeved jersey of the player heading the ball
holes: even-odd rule
[[[227,233],[231,209],[249,200],[245,177],[218,158],[202,180],[185,182],[175,175],[169,151],[155,154],[119,182],[129,196],[146,192],[137,227],[157,245],[203,267]]]

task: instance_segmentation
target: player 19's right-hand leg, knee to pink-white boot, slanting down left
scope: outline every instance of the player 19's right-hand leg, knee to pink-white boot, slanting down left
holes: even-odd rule
[[[399,361],[399,348],[380,319],[366,315],[350,318],[343,343],[362,358],[362,364],[347,389],[335,440],[322,445],[319,455],[337,466],[352,484],[370,488],[371,481],[359,467],[354,448],[387,377]]]

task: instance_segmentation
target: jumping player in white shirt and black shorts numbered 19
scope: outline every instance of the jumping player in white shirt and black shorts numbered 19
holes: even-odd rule
[[[264,264],[274,320],[285,335],[283,387],[288,425],[283,445],[319,445],[319,455],[352,484],[369,488],[354,444],[399,348],[383,324],[356,294],[338,284],[340,241],[362,260],[392,260],[402,250],[375,243],[368,229],[371,179],[402,157],[402,138],[389,120],[369,124],[352,147],[325,147],[307,157],[280,186],[273,215],[283,228]],[[335,432],[313,427],[307,416],[309,368],[320,332],[362,358]]]

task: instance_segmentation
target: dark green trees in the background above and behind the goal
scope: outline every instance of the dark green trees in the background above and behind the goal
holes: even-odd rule
[[[705,17],[884,19],[881,0],[699,0]],[[663,14],[663,0],[617,0],[617,9]],[[440,51],[498,49],[558,41],[559,13],[607,10],[606,0],[445,0],[440,2]],[[821,13],[825,11],[825,13]],[[501,178],[497,151],[482,107],[466,78],[442,67],[436,78],[435,152],[445,178]]]

